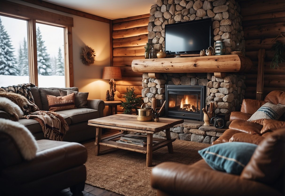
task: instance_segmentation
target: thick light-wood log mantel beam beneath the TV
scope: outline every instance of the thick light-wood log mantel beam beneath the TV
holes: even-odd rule
[[[139,73],[246,72],[252,61],[243,55],[216,55],[166,59],[135,59],[132,70]]]

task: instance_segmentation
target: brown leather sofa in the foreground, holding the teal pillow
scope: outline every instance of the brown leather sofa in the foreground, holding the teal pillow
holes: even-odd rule
[[[164,162],[152,169],[151,185],[166,195],[284,195],[285,128],[264,137],[241,175],[213,170],[204,159],[193,165]]]

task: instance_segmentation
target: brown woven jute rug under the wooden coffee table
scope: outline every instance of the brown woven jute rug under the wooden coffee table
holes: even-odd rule
[[[151,169],[162,162],[173,161],[192,164],[200,160],[198,150],[209,144],[176,140],[173,154],[167,147],[152,153],[152,167],[146,167],[146,154],[123,149],[100,146],[100,155],[94,155],[94,142],[84,144],[88,158],[86,183],[126,196],[154,196],[156,190],[150,185]]]

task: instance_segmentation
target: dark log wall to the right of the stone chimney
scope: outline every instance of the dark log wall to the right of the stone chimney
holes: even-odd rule
[[[285,43],[285,1],[239,1],[245,39],[246,56],[253,61],[253,68],[246,76],[245,98],[256,99],[258,77],[258,50],[265,49],[264,82],[262,100],[274,90],[285,91],[285,63],[272,69],[270,63],[274,55],[271,47],[276,41]]]

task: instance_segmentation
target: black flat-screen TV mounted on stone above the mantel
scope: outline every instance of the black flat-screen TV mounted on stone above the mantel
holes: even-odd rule
[[[213,45],[212,19],[165,25],[167,54],[199,54]]]

